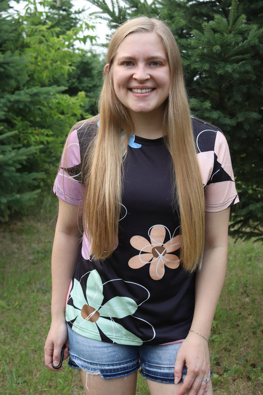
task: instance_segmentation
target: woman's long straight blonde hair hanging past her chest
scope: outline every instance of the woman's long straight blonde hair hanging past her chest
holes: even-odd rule
[[[180,52],[170,29],[157,19],[143,16],[125,22],[110,41],[108,72],[104,76],[99,102],[100,125],[83,169],[83,228],[92,245],[93,258],[107,258],[117,243],[122,155],[133,130],[129,112],[113,89],[112,64],[122,40],[129,34],[142,32],[155,32],[161,38],[170,65],[171,87],[164,113],[163,134],[174,164],[174,200],[179,203],[182,235],[180,258],[183,267],[192,272],[200,266],[204,249],[204,193]],[[125,130],[126,140],[120,143],[122,130]]]

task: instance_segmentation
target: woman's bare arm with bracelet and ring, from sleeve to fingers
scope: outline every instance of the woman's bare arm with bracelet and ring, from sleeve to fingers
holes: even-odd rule
[[[227,263],[230,209],[205,214],[205,249],[201,270],[196,274],[195,307],[191,330],[182,343],[175,363],[175,383],[181,379],[183,365],[188,373],[178,395],[205,395],[210,378],[208,349],[213,318],[223,288]],[[203,336],[200,336],[200,334]]]

